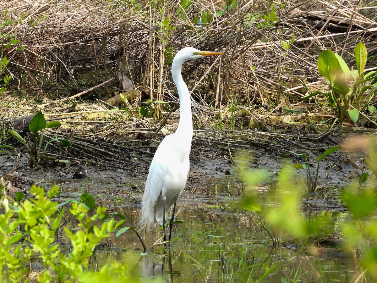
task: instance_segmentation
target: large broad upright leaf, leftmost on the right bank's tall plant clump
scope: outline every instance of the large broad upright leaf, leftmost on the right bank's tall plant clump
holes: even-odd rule
[[[323,50],[318,57],[318,71],[323,77],[325,77],[330,84],[334,82],[334,78],[342,73],[338,59],[331,50]]]

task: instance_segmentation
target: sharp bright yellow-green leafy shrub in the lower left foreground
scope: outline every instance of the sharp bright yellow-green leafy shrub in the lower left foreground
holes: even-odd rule
[[[106,270],[114,270],[119,263],[109,263],[98,273],[90,272],[89,260],[101,240],[110,236],[124,222],[116,222],[113,218],[107,221],[104,214],[106,208],[98,206],[91,216],[85,206],[79,202],[72,203],[69,212],[51,198],[59,194],[57,186],[45,193],[41,187],[32,186],[31,199],[21,202],[25,195],[16,196],[14,202],[5,194],[5,187],[0,183],[2,195],[0,204],[3,213],[0,214],[0,278],[7,281],[20,282],[26,280],[31,263],[39,263],[39,282],[77,282],[92,274],[100,278]],[[89,195],[85,195],[89,199]],[[91,198],[93,198],[90,195]],[[105,217],[105,218],[104,218]],[[76,218],[72,221],[72,218]],[[66,225],[71,219],[70,225]],[[103,219],[100,226],[98,219]],[[75,224],[74,224],[75,223]],[[64,251],[58,239],[64,239],[65,245],[70,245]],[[127,275],[130,278],[128,265],[120,268],[113,275],[114,280]],[[117,277],[118,276],[118,277]],[[110,280],[108,280],[110,282]]]

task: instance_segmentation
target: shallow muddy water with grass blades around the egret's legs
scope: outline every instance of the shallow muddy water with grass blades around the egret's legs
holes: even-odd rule
[[[136,225],[147,168],[130,174],[94,166],[87,169],[89,181],[71,178],[74,169],[69,167],[19,174],[35,183],[42,180],[45,188],[60,185],[58,201],[88,192],[97,205],[124,215],[125,226]],[[186,190],[177,202],[176,220],[184,222],[173,226],[170,253],[155,246],[143,254],[136,234],[127,231],[109,238],[107,246],[111,248],[97,249],[94,264],[100,267],[108,258],[115,258],[130,265],[135,275],[164,282],[351,281],[354,261],[335,249],[319,245],[302,249],[290,241],[273,246],[258,215],[238,208],[244,188],[235,173],[225,157],[208,161],[206,166],[192,165]],[[258,192],[263,199],[268,188]],[[304,210],[328,210],[334,222],[347,217],[337,200],[308,198]],[[152,229],[143,240],[149,249],[161,236],[162,231]]]

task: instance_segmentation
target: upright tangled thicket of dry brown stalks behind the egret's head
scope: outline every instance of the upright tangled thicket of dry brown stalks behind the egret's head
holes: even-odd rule
[[[37,86],[44,93],[42,87],[51,88],[54,82],[77,93],[87,84],[114,77],[117,68],[146,87],[149,98],[176,101],[170,93],[168,65],[172,52],[191,45],[228,53],[212,67],[211,81],[205,82],[212,90],[202,93],[196,86],[195,99],[202,106],[219,106],[237,93],[243,97],[240,103],[248,106],[279,100],[281,95],[301,97],[297,78],[318,81],[316,57],[325,48],[343,55],[350,65],[359,41],[371,54],[375,52],[376,15],[367,1],[276,5],[251,0],[229,6],[203,0],[184,7],[174,1],[125,3],[1,3],[0,11],[8,11],[2,21],[12,20],[2,34],[11,34],[25,46],[8,65],[19,80],[17,85],[26,90]],[[89,82],[82,83],[82,73],[88,70],[92,76],[86,75]],[[197,81],[204,72],[200,66],[188,66],[184,75]]]

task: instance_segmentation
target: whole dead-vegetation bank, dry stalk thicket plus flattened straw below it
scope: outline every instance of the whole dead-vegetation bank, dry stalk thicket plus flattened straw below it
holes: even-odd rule
[[[196,128],[244,128],[255,137],[248,130],[251,126],[263,131],[279,128],[282,119],[276,113],[282,111],[281,106],[298,109],[298,121],[303,116],[331,118],[319,105],[300,102],[307,92],[302,81],[311,88],[323,88],[324,79],[316,67],[320,51],[331,48],[354,66],[352,49],[360,41],[370,54],[366,68],[375,69],[377,16],[368,5],[367,1],[233,1],[224,5],[211,0],[143,4],[8,0],[0,3],[0,11],[7,11],[1,16],[0,55],[10,58],[2,76],[11,74],[13,80],[2,94],[0,118],[9,125],[15,117],[35,113],[38,105],[49,118],[74,117],[66,119],[64,127],[67,132],[74,128],[78,138],[150,139],[159,125],[151,132],[153,125],[147,122],[154,119],[143,120],[138,107],[145,106],[146,99],[178,102],[169,64],[184,46],[228,54],[205,64],[192,62],[184,70],[193,89]],[[12,39],[20,42],[6,48]],[[122,92],[119,80],[126,78],[138,94],[130,101],[131,111],[109,114],[113,107],[102,100]],[[63,114],[73,103],[66,97],[94,97],[97,102],[78,103],[73,113]],[[100,114],[93,115],[93,110]],[[153,117],[160,120],[169,108],[158,104],[154,112]],[[296,121],[295,115],[291,121]],[[175,117],[173,112],[165,122],[176,121]],[[319,129],[314,128],[314,132]],[[265,139],[262,134],[258,138]]]

